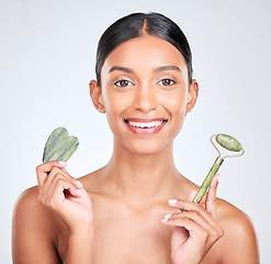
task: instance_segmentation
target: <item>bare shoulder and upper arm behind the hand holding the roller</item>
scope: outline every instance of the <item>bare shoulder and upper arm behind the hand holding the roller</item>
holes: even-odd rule
[[[250,218],[222,199],[217,199],[217,215],[224,229],[224,237],[217,244],[223,263],[259,263],[257,238]]]

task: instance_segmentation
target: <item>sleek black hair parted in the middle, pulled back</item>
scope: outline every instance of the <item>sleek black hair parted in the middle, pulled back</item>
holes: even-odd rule
[[[184,57],[189,80],[192,80],[192,54],[181,29],[172,20],[159,13],[132,13],[114,22],[99,41],[95,64],[99,86],[101,85],[101,69],[109,54],[120,44],[146,34],[157,35],[174,45]]]

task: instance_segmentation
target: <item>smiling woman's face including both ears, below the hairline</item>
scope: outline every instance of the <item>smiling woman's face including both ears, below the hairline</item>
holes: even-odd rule
[[[197,84],[188,79],[181,53],[156,36],[140,36],[116,47],[101,70],[101,88],[91,81],[97,109],[106,113],[115,144],[154,154],[171,147]]]

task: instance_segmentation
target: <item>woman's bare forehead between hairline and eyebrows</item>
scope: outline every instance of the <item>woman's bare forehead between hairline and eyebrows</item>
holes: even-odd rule
[[[109,73],[113,66],[153,69],[167,65],[174,65],[187,72],[185,59],[177,47],[158,36],[144,35],[117,46],[106,57],[102,73]]]

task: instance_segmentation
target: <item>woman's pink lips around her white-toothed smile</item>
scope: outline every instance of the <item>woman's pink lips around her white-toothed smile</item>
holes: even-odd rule
[[[139,123],[149,123],[149,122],[160,122],[163,121],[161,124],[154,127],[154,128],[136,128],[129,124],[129,122],[139,122]],[[127,128],[135,134],[138,135],[154,135],[156,133],[158,133],[163,125],[167,123],[167,119],[162,119],[162,118],[151,118],[151,119],[142,119],[142,118],[128,118],[125,119],[124,122],[127,125]]]

